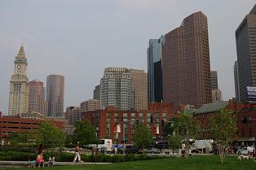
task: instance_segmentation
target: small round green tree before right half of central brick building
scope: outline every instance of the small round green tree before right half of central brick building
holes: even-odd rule
[[[143,124],[138,124],[133,139],[136,145],[143,149],[144,146],[150,146],[152,144],[152,132],[144,127]]]

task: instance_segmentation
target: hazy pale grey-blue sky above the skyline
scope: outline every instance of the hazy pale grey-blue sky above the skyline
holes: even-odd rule
[[[93,97],[104,68],[147,68],[149,39],[196,11],[208,18],[210,68],[223,100],[235,97],[235,31],[255,0],[0,0],[0,111],[7,113],[15,55],[24,46],[29,81],[65,77],[64,107]],[[65,110],[65,109],[64,109]]]

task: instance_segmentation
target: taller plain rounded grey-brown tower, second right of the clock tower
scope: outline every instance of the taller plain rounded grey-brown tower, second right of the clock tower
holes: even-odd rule
[[[64,76],[47,76],[46,82],[47,116],[58,117],[64,113]]]

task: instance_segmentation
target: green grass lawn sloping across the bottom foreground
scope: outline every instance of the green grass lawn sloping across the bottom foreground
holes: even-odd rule
[[[28,169],[28,168],[25,168]],[[236,156],[228,156],[221,164],[218,156],[192,156],[189,159],[167,158],[106,165],[62,166],[40,168],[44,170],[256,170],[254,160],[237,161]]]

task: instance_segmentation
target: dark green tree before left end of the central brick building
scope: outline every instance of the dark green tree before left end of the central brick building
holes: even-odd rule
[[[76,122],[73,140],[84,146],[98,142],[95,129],[87,120]]]

